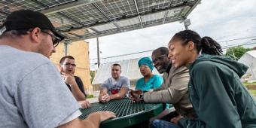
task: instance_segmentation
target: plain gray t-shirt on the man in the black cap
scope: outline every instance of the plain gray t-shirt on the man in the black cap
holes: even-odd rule
[[[0,127],[56,127],[80,108],[47,57],[0,45]]]

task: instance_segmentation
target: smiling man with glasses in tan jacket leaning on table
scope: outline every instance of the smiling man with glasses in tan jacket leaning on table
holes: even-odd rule
[[[167,47],[159,47],[151,55],[154,67],[160,74],[163,74],[163,84],[161,87],[147,93],[131,90],[130,97],[135,101],[163,102],[174,105],[174,112],[168,114],[169,112],[166,111],[160,115],[163,120],[169,121],[172,117],[179,115],[194,117],[194,110],[187,91],[189,81],[188,69],[185,67],[175,69],[172,63],[169,62],[168,54],[169,50]],[[163,117],[164,114],[168,115]],[[154,125],[154,122],[152,124]]]

